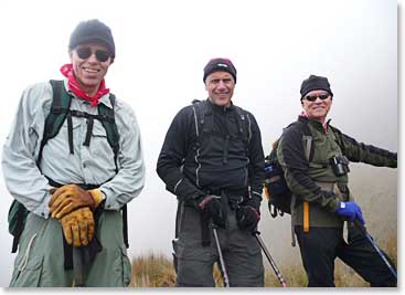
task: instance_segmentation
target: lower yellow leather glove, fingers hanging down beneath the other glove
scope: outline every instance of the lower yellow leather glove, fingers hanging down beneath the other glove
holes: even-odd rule
[[[67,244],[87,245],[94,238],[95,223],[88,207],[79,208],[60,219]]]

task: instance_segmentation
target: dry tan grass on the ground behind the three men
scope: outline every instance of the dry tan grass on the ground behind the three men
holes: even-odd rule
[[[376,241],[379,246],[383,249],[397,264],[397,239],[392,233],[391,239]],[[265,263],[265,286],[280,287],[280,283],[270,268],[267,261]],[[287,282],[288,287],[305,287],[307,285],[307,276],[300,264],[283,265],[277,261],[277,265]],[[348,267],[341,261],[337,260],[334,278],[337,287],[367,287],[364,282],[353,270]],[[223,286],[223,280],[219,267],[214,266],[214,280],[216,286]],[[172,260],[161,254],[149,254],[137,257],[132,261],[132,287],[173,287],[175,285],[175,272]]]

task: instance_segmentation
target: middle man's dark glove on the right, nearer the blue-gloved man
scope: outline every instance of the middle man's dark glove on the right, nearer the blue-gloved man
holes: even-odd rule
[[[241,230],[254,232],[260,220],[260,200],[256,197],[236,209],[236,221]]]

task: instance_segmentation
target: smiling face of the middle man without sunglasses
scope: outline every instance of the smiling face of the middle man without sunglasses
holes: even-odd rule
[[[205,89],[214,105],[230,106],[234,88],[234,78],[227,72],[214,72],[205,80]]]

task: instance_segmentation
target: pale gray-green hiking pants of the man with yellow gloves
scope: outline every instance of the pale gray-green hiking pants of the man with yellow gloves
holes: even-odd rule
[[[103,250],[92,264],[84,265],[84,286],[127,286],[131,266],[124,245],[120,212],[102,213],[97,238]],[[20,238],[10,287],[70,287],[73,281],[73,270],[64,270],[61,224],[55,219],[30,213]]]

